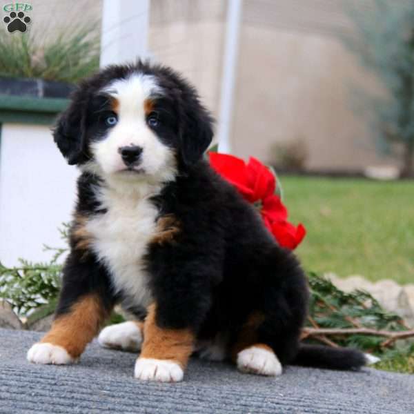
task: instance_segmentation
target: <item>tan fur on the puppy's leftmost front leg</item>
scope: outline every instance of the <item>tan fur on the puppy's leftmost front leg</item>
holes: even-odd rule
[[[108,315],[109,312],[103,308],[99,297],[82,297],[71,306],[68,313],[55,319],[41,342],[62,346],[72,357],[77,358],[97,335]]]

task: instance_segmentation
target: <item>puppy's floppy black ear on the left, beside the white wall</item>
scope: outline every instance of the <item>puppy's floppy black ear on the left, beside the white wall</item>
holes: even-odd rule
[[[69,165],[82,164],[86,154],[86,110],[88,103],[77,90],[53,129],[53,138]]]

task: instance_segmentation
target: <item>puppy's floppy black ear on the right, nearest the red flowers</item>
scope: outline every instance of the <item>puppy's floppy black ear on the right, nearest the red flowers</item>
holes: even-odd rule
[[[181,158],[186,165],[195,164],[213,139],[213,117],[197,96],[183,97],[184,117],[181,119]]]

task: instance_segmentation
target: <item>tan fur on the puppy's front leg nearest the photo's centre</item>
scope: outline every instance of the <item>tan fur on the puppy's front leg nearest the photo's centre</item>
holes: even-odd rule
[[[166,329],[157,326],[157,308],[149,306],[144,323],[144,343],[139,357],[168,359],[185,368],[193,353],[195,335],[189,329]]]

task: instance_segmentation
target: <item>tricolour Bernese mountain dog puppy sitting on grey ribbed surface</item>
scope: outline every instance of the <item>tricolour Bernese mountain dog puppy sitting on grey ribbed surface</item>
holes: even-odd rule
[[[73,93],[54,130],[81,170],[70,254],[30,362],[75,362],[122,304],[137,320],[104,328],[99,342],[140,349],[141,380],[182,380],[193,353],[261,375],[366,364],[359,351],[300,344],[306,277],[204,159],[212,124],[195,88],[147,62],[110,66]]]

